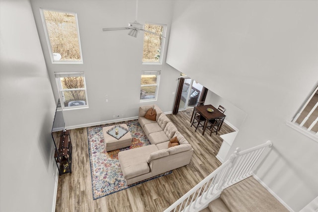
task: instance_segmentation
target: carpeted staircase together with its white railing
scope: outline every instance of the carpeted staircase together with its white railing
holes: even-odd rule
[[[264,149],[271,146],[272,142],[267,141],[243,151],[237,148],[229,160],[164,212],[254,212],[268,211],[271,207],[280,212],[287,211],[263,186],[250,177]],[[273,206],[270,206],[271,204]]]

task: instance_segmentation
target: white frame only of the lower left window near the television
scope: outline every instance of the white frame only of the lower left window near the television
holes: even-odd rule
[[[62,110],[76,110],[76,109],[84,109],[88,108],[88,98],[87,98],[87,87],[86,87],[86,80],[85,80],[85,74],[83,71],[78,71],[78,72],[54,72],[55,75],[55,81],[56,81],[56,86],[58,89],[59,97],[61,100],[61,106]],[[73,88],[73,89],[64,89],[61,83],[61,78],[63,77],[83,77],[84,81],[84,88]],[[84,90],[85,91],[85,99],[86,99],[86,105],[80,105],[80,106],[71,106],[71,107],[65,107],[64,102],[65,102],[65,97],[63,96],[63,92],[65,91],[73,91],[73,90]]]

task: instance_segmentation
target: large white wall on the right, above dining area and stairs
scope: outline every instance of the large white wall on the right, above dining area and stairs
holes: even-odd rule
[[[318,79],[318,1],[176,1],[167,63],[247,113],[230,153],[271,140],[257,176],[294,211],[318,196],[318,142],[286,125]]]

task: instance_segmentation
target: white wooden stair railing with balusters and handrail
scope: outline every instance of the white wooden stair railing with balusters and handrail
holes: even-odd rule
[[[164,212],[198,212],[206,208],[211,201],[220,197],[224,189],[251,176],[259,157],[266,147],[271,146],[272,142],[267,141],[243,151],[237,148],[226,162]]]

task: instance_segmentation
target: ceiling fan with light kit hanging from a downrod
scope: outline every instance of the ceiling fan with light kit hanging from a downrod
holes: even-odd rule
[[[138,0],[136,0],[136,20],[137,20],[137,14],[138,14]],[[165,38],[162,35],[159,35],[155,32],[145,30],[144,25],[139,23],[136,20],[134,22],[129,22],[128,27],[103,28],[103,31],[129,30],[128,35],[135,38],[137,38],[139,31],[144,31],[144,32],[148,32],[150,34],[158,35],[162,38]]]

